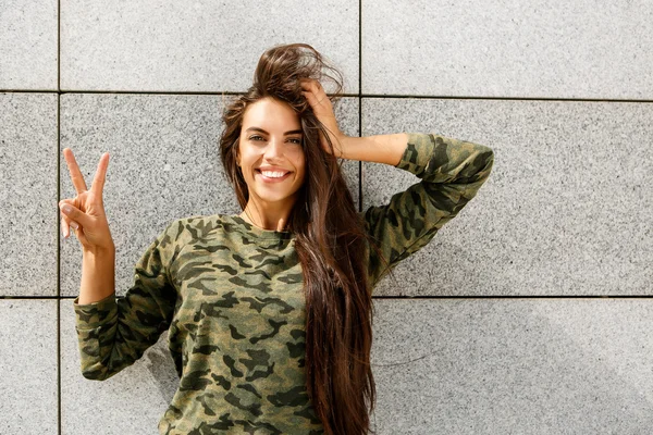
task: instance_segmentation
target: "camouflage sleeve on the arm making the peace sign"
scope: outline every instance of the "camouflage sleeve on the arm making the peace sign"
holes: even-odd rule
[[[107,380],[139,359],[170,326],[176,290],[169,275],[182,229],[174,221],[143,253],[134,285],[124,298],[111,295],[94,303],[74,300],[81,369],[84,377]]]

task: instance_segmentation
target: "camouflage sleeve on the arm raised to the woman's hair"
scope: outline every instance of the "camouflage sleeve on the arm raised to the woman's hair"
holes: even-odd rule
[[[361,213],[367,233],[383,256],[368,247],[371,287],[454,219],[476,196],[494,164],[491,148],[434,134],[408,134],[396,167],[421,178],[385,206]]]

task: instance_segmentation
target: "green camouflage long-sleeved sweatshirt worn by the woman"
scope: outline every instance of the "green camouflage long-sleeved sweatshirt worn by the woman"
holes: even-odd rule
[[[377,240],[371,285],[431,240],[490,175],[492,149],[409,134],[396,167],[421,181],[359,213]],[[88,304],[74,300],[82,373],[106,380],[169,331],[178,388],[161,434],[320,434],[305,386],[305,301],[292,233],[238,215],[173,221],[137,262],[134,285]]]

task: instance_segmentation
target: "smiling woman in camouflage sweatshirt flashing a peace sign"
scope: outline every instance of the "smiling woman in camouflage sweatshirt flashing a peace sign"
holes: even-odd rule
[[[180,386],[161,434],[368,433],[371,289],[476,196],[494,156],[430,134],[344,135],[321,85],[337,96],[340,77],[307,45],[263,53],[220,138],[243,212],[172,222],[122,299],[101,202],[108,154],[87,191],[64,150],[78,195],[61,201],[72,207],[62,225],[64,235],[77,225],[84,252],[74,301],[83,375],[114,375],[169,330]],[[338,159],[421,182],[358,213]]]

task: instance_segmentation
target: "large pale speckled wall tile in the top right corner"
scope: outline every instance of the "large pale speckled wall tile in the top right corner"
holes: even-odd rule
[[[653,96],[650,0],[361,4],[364,94]]]

